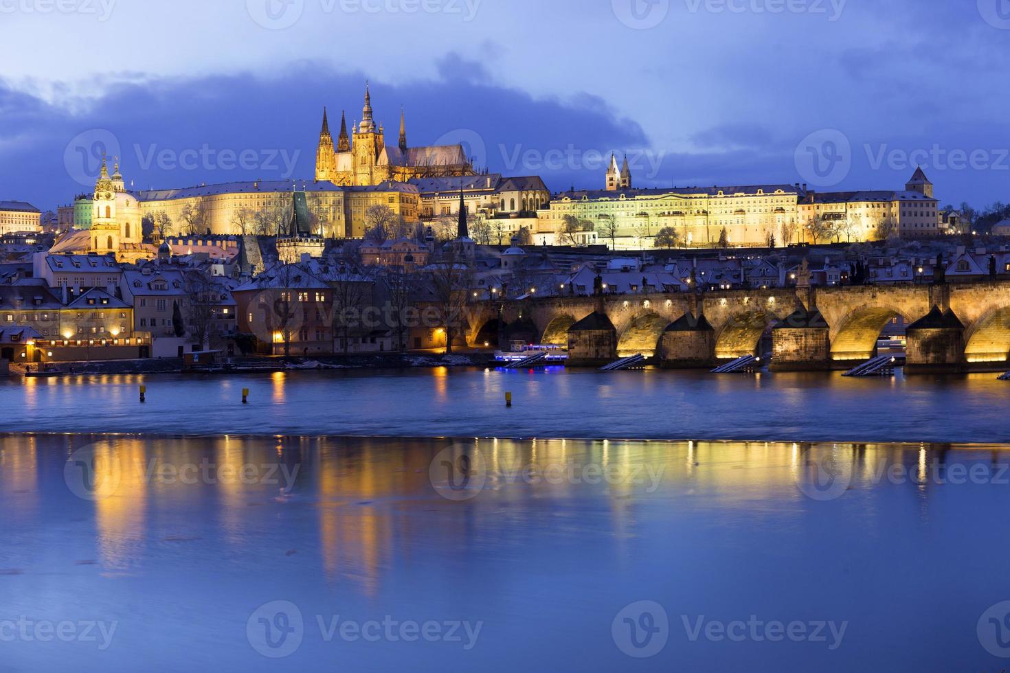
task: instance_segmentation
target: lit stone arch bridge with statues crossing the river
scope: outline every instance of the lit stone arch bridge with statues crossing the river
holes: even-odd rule
[[[780,368],[843,368],[872,357],[884,328],[895,318],[909,329],[909,369],[1010,368],[1010,283],[971,285],[841,286],[738,290],[707,293],[558,297],[472,305],[468,312],[470,344],[510,339],[530,343],[568,344],[570,329],[593,314],[603,313],[615,331],[617,356],[642,353],[664,363],[692,360],[708,366],[741,355],[761,355],[762,338],[775,343]],[[946,314],[944,325],[937,316]],[[675,326],[688,314],[701,326]],[[806,314],[806,315],[804,315]],[[950,318],[955,320],[951,322]],[[937,324],[934,324],[937,323]],[[955,328],[960,323],[961,329]],[[694,323],[691,323],[694,325]],[[701,351],[680,357],[679,346],[665,350],[671,331],[711,332]],[[929,338],[932,354],[919,357],[916,330]],[[955,333],[956,332],[956,333]],[[938,336],[939,335],[939,336]],[[940,348],[937,338],[952,340]],[[923,337],[925,338],[925,337]],[[925,342],[923,342],[925,343]],[[943,350],[943,353],[932,352]],[[913,351],[916,351],[913,354]],[[699,353],[704,353],[700,355]],[[943,361],[922,361],[943,360]],[[950,360],[950,361],[947,361]]]

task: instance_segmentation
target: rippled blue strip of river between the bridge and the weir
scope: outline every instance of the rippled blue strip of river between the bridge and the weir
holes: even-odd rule
[[[991,373],[441,368],[75,376],[0,383],[0,431],[975,443],[1010,441],[1008,405],[1010,381]]]

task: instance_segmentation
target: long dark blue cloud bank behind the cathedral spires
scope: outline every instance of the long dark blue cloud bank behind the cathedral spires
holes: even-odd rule
[[[478,77],[463,78],[461,71]],[[376,120],[395,142],[402,105],[410,144],[463,141],[480,164],[542,173],[557,189],[583,165],[566,160],[540,170],[545,156],[573,147],[581,155],[647,144],[640,126],[618,118],[598,98],[534,99],[491,84],[485,75],[458,59],[442,65],[436,81],[373,81]],[[280,77],[132,76],[86,105],[76,101],[76,112],[0,84],[0,198],[29,200],[39,208],[69,203],[88,190],[103,149],[121,155],[123,175],[138,189],[311,179],[323,106],[334,134],[341,109],[348,125],[361,119],[365,79],[309,63]],[[598,180],[597,174],[589,180]]]

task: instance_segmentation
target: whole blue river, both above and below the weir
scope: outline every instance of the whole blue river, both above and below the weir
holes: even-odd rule
[[[1008,388],[7,383],[0,671],[1000,670]]]

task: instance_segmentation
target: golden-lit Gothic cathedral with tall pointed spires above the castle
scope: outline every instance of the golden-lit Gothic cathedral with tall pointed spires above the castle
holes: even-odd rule
[[[400,112],[400,137],[396,145],[387,145],[385,129],[377,125],[372,110],[372,93],[365,87],[362,121],[347,133],[346,116],[340,115],[340,133],[333,142],[326,110],[316,151],[316,182],[330,182],[340,187],[371,187],[393,181],[404,183],[424,178],[453,178],[477,175],[463,145],[407,145],[407,126]]]

